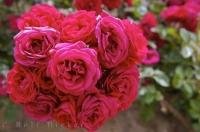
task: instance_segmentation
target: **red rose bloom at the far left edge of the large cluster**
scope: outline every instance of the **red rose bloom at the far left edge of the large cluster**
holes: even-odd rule
[[[19,64],[8,73],[8,93],[13,102],[21,104],[28,103],[35,99],[38,88],[34,82],[34,74],[28,68]]]

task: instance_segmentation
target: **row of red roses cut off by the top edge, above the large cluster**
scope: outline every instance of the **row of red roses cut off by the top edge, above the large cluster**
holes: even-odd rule
[[[74,0],[74,6],[78,10],[96,11],[100,13],[102,11],[102,5],[108,9],[119,8],[125,2],[128,6],[132,5],[133,0]]]

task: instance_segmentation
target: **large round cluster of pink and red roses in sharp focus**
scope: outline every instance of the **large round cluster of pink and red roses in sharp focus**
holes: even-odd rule
[[[134,23],[42,4],[18,27],[8,93],[27,116],[93,131],[136,99],[147,41]]]

